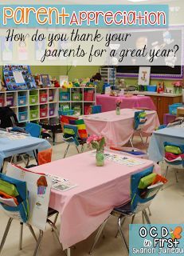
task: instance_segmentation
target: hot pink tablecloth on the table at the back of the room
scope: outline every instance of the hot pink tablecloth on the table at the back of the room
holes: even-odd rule
[[[147,107],[150,110],[156,110],[154,102],[148,96],[132,96],[126,98],[125,96],[113,97],[105,94],[96,95],[96,104],[102,106],[102,112],[115,110],[115,101],[117,98],[122,99],[121,109],[132,109],[134,107]]]

